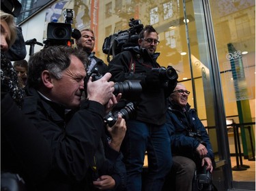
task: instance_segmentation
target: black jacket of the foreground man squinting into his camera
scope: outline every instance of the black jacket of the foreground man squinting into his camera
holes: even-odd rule
[[[104,135],[103,105],[86,101],[78,111],[66,114],[61,105],[46,101],[35,89],[29,88],[23,111],[51,143],[53,150],[51,171],[38,190],[92,190],[94,178],[90,169],[94,165],[94,156],[100,154],[104,158],[104,149],[99,150]],[[98,166],[103,168],[108,162],[106,171],[113,169],[116,160],[122,157],[118,152],[114,153]],[[106,171],[102,170],[102,173],[109,173]]]

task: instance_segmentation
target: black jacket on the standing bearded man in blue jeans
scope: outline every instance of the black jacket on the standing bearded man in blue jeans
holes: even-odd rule
[[[142,92],[136,100],[137,120],[162,125],[165,123],[168,107],[166,98],[171,94],[173,87],[175,88],[176,82],[161,82],[160,85],[147,84],[146,73],[152,68],[160,67],[156,62],[158,56],[159,53],[150,56],[147,50],[139,47],[126,48],[111,60],[109,72],[112,74],[113,82],[141,81]]]

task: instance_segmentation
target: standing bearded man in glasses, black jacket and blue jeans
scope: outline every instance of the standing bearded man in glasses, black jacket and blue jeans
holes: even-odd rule
[[[159,41],[154,27],[145,26],[139,33],[138,43],[139,46],[126,46],[117,54],[109,63],[109,72],[114,82],[140,80],[142,86],[136,101],[137,116],[127,120],[127,133],[121,147],[127,171],[127,190],[141,191],[145,187],[147,191],[158,191],[172,164],[165,113],[167,97],[175,88],[177,76],[173,80],[160,77],[160,65],[156,62],[159,53],[155,53]],[[145,185],[142,185],[146,151],[149,172]]]

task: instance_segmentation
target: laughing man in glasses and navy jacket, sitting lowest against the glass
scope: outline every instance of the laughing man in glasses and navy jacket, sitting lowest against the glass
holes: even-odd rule
[[[183,84],[178,83],[169,97],[167,123],[171,137],[175,190],[192,190],[195,169],[206,165],[212,173],[214,154],[205,127],[197,117],[197,111],[190,109],[188,95]],[[173,179],[173,177],[171,177]]]

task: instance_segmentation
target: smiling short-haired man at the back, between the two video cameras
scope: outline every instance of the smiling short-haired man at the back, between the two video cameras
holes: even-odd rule
[[[81,30],[81,38],[76,39],[76,47],[86,52],[89,63],[87,65],[87,72],[98,71],[104,75],[107,71],[107,65],[103,60],[97,58],[94,52],[95,36],[91,29]]]

